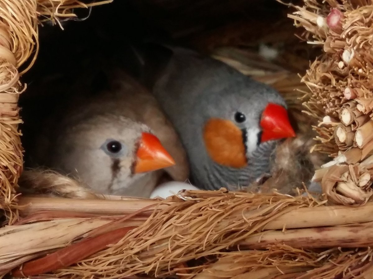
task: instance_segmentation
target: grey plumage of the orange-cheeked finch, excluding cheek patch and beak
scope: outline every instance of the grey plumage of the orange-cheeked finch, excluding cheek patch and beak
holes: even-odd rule
[[[244,76],[235,69],[188,49],[173,48],[167,57],[153,93],[175,125],[188,153],[193,182],[206,189],[248,185],[262,173],[269,172],[269,157],[276,142],[260,144],[247,154],[243,169],[214,163],[204,146],[203,127],[210,118],[234,122],[239,111],[246,115],[240,129],[258,131],[261,113],[267,103],[285,105],[276,90]],[[255,136],[255,135],[253,135]],[[249,134],[250,137],[250,134]]]

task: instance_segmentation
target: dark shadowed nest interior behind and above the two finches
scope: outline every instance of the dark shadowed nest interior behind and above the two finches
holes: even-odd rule
[[[38,135],[46,125],[53,126],[54,113],[63,113],[73,104],[84,103],[106,82],[106,77],[98,71],[93,83],[84,83],[82,73],[91,74],[93,68],[106,65],[107,61],[125,70],[131,68],[138,59],[132,44],[171,42],[219,57],[242,72],[264,80],[266,76],[270,79],[274,73],[284,71],[289,77],[283,79],[283,92],[296,92],[294,89],[298,86],[305,90],[298,74],[303,75],[309,61],[320,54],[319,48],[307,45],[298,37],[303,30],[295,28],[293,20],[288,19],[289,7],[275,0],[116,0],[74,12],[77,19],[60,22],[64,30],[59,24],[44,23],[40,29],[37,61],[23,76],[27,90],[19,104],[25,122],[21,130],[26,168],[34,167],[28,150],[38,144],[43,146]],[[77,96],[70,88],[79,83],[81,91]],[[280,151],[282,160],[287,163],[297,160],[300,164],[295,170],[294,166],[289,167],[293,173],[304,173],[295,182],[299,186],[310,179],[315,165],[318,167],[322,161],[319,157],[309,157],[312,142],[308,140],[314,135],[311,119],[300,113],[302,100],[297,98],[302,95],[289,93],[285,99],[293,109],[292,122],[306,140],[300,137],[304,141],[295,144],[296,151],[289,147]],[[291,152],[294,157],[289,159]],[[300,172],[300,169],[306,171]],[[280,167],[278,171],[283,170]],[[282,192],[288,193],[289,187]]]

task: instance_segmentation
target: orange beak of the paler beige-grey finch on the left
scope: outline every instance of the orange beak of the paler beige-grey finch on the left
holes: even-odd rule
[[[164,149],[159,139],[149,133],[142,133],[136,155],[135,173],[144,173],[175,165],[175,160]]]

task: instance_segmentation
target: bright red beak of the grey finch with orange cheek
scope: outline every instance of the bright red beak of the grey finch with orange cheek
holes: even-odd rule
[[[269,103],[261,116],[261,142],[295,137],[287,110],[280,105]]]

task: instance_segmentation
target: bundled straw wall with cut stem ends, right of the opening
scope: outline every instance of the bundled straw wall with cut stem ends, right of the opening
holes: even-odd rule
[[[373,2],[309,0],[294,7],[289,17],[306,30],[309,44],[324,51],[302,79],[311,92],[305,106],[319,122],[314,127],[318,143],[313,150],[349,157],[316,176],[323,173],[322,187],[329,201],[365,203],[372,195],[370,187],[360,186],[370,180],[371,166],[360,163],[373,152]],[[335,120],[333,125],[322,120],[325,116]]]

